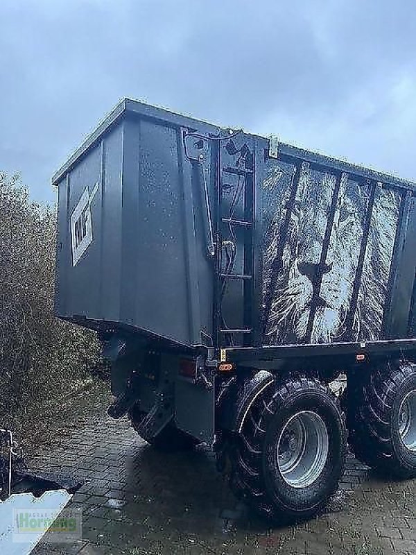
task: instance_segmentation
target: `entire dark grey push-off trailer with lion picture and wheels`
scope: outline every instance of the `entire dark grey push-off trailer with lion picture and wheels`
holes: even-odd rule
[[[347,429],[416,476],[415,184],[126,99],[53,185],[56,313],[99,332],[114,418],[209,443],[279,522],[336,491]]]

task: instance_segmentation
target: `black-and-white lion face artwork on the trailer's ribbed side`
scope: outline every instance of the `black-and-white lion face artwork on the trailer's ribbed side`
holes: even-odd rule
[[[306,162],[293,176],[293,166],[268,162],[264,343],[379,339],[400,194],[347,173],[337,182]]]

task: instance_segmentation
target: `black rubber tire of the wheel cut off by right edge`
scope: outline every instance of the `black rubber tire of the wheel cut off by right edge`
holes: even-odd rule
[[[352,376],[347,390],[349,443],[356,458],[399,479],[416,477],[416,443],[406,447],[410,436],[401,436],[400,421],[404,400],[413,391],[416,399],[416,365],[387,364],[366,379]],[[415,411],[409,430],[416,438]]]

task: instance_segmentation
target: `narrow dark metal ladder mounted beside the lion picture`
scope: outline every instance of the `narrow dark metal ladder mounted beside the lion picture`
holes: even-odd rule
[[[217,139],[216,151],[216,291],[214,325],[216,345],[227,346],[253,345],[253,307],[254,307],[254,202],[255,202],[255,161],[254,144],[250,137],[237,133],[241,144],[237,148],[233,139]],[[234,181],[234,187],[228,181]],[[226,206],[224,196],[227,189],[232,190],[232,203]],[[241,210],[243,209],[243,210]],[[235,212],[239,210],[239,216]],[[240,231],[239,231],[240,230]],[[236,233],[243,241],[237,241]],[[227,237],[228,235],[228,237]],[[234,263],[226,264],[225,251],[234,244]],[[243,261],[243,271],[234,271],[235,259]],[[241,266],[241,264],[240,264]],[[223,314],[223,304],[229,295],[229,283],[241,282],[242,318],[241,325],[228,327]]]

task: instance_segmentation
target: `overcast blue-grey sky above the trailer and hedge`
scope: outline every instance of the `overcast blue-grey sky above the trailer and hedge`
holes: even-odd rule
[[[416,3],[0,0],[0,95],[39,200],[123,96],[416,178]]]

